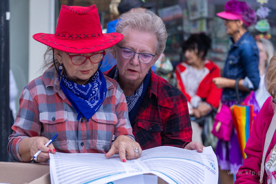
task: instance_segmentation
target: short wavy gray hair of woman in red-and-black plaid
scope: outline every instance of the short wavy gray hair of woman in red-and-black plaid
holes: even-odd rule
[[[125,30],[131,28],[141,32],[149,32],[157,38],[155,45],[157,55],[164,52],[168,35],[164,22],[155,13],[147,9],[135,8],[121,14],[119,19],[121,20],[119,20],[116,32],[123,34]]]

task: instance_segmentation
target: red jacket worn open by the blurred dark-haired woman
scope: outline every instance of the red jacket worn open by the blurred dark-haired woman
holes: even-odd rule
[[[184,83],[181,79],[181,73],[186,70],[186,62],[179,63],[175,70],[177,76],[177,83],[181,92],[186,96],[187,100],[190,102],[191,96],[186,93]],[[209,70],[209,73],[206,74],[204,79],[199,82],[199,87],[197,88],[197,96],[201,99],[206,99],[206,103],[209,103],[215,108],[219,107],[219,100],[221,99],[222,89],[218,89],[215,84],[212,82],[213,78],[220,76],[220,70],[213,61],[206,60],[204,61],[205,67]]]

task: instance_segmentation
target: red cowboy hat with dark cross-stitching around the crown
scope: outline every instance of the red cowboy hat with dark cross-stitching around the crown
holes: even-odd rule
[[[103,34],[96,5],[62,5],[55,34],[37,33],[32,37],[54,49],[77,54],[104,50],[124,39],[117,32]]]

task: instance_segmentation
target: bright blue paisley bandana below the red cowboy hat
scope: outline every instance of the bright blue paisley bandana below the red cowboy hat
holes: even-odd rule
[[[61,73],[61,70],[59,72]],[[75,108],[78,114],[77,120],[83,116],[87,120],[90,119],[106,99],[106,79],[103,74],[101,71],[96,72],[86,85],[78,85],[70,81],[64,72],[62,76],[64,78],[61,77],[61,90]]]

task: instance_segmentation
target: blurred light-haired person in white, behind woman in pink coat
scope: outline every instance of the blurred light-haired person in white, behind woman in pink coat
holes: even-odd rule
[[[264,86],[264,76],[266,74],[266,69],[270,62],[270,59],[273,57],[274,48],[271,41],[268,39],[259,39],[256,41],[257,47],[259,49],[259,89],[256,93],[256,100],[259,104],[259,108],[262,108],[262,105],[266,99],[270,96]]]

